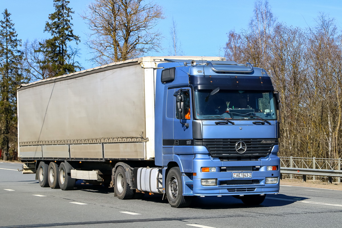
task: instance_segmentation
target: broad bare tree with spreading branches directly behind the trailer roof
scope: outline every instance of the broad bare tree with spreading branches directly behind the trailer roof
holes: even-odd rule
[[[94,0],[82,17],[92,33],[88,46],[97,64],[124,61],[159,49],[154,31],[163,18],[161,7],[143,0]]]

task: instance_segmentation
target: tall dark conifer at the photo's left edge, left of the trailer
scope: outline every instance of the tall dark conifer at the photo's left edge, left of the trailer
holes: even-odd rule
[[[14,24],[7,9],[0,21],[0,147],[7,160],[10,146],[16,145],[16,88],[25,82],[21,60],[23,53],[18,50],[21,40],[17,39]]]

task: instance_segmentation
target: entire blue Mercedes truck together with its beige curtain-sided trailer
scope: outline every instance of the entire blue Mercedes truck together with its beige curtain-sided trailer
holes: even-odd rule
[[[23,173],[119,199],[162,194],[260,204],[279,191],[279,95],[262,68],[221,57],[141,57],[21,85]]]

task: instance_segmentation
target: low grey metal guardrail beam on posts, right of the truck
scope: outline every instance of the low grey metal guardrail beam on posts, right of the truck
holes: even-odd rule
[[[306,176],[326,176],[328,183],[332,184],[332,177],[337,177],[337,182],[340,182],[342,177],[342,170],[323,170],[323,169],[304,169],[304,168],[289,168],[280,167],[281,174],[295,174],[302,175],[303,182],[306,182]],[[281,177],[280,177],[281,178]]]

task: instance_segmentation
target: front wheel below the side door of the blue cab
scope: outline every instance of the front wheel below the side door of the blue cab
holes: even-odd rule
[[[173,167],[168,172],[166,181],[166,197],[172,207],[187,207],[192,197],[183,196],[182,176],[179,167]]]

